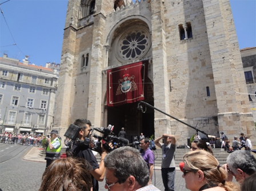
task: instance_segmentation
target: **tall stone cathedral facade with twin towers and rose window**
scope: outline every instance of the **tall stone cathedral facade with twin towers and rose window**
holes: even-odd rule
[[[209,135],[255,138],[229,0],[69,0],[54,127],[64,133],[86,118],[130,137],[170,133],[187,143],[195,130],[161,112],[107,105],[107,70],[142,60],[143,101]]]

